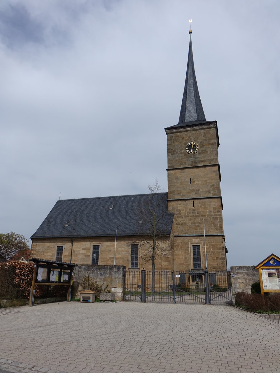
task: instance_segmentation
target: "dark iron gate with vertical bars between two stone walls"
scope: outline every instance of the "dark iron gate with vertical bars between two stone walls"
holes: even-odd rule
[[[233,304],[227,272],[207,270],[127,270],[125,300]]]

